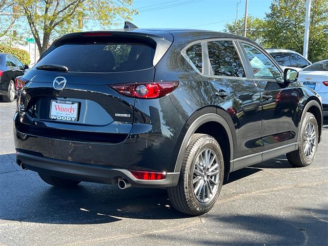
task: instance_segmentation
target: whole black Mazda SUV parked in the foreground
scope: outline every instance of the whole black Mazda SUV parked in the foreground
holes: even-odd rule
[[[67,34],[19,79],[17,163],[53,186],[168,188],[175,209],[204,214],[230,172],[313,162],[322,105],[296,79],[227,33]]]

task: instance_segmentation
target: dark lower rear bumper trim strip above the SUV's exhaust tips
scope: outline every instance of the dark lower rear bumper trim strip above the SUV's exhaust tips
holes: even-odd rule
[[[38,173],[112,185],[117,185],[118,178],[125,178],[134,187],[165,188],[175,186],[179,179],[179,173],[167,173],[166,178],[162,180],[141,180],[135,178],[127,169],[57,160],[20,152],[17,152],[16,162],[23,163],[28,170]]]

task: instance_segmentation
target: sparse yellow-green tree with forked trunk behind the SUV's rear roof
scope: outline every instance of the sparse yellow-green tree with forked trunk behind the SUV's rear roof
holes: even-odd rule
[[[80,30],[81,24],[116,25],[118,17],[130,20],[137,11],[133,0],[14,0],[27,20],[38,51],[43,54],[52,39]],[[96,16],[96,17],[95,17]]]

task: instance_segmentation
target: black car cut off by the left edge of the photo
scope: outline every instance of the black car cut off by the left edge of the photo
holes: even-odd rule
[[[14,55],[0,53],[0,97],[3,101],[9,103],[15,99],[15,79],[28,68]]]

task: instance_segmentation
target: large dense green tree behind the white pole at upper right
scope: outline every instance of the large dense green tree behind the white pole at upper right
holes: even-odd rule
[[[265,42],[273,48],[303,53],[306,0],[274,1],[265,20]],[[328,58],[328,1],[312,0],[308,58]]]

